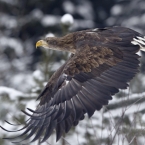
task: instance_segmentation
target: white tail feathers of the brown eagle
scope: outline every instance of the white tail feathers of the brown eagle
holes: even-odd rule
[[[145,36],[144,37],[137,36],[136,38],[133,38],[133,41],[131,41],[131,43],[134,45],[139,45],[140,50],[145,51]]]

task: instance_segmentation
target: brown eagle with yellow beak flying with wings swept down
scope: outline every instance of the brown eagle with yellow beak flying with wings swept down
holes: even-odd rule
[[[85,114],[91,117],[119,89],[126,89],[138,72],[136,53],[145,51],[145,37],[129,28],[106,27],[47,37],[36,43],[40,46],[71,56],[49,79],[36,110],[23,111],[30,119],[18,137],[34,136],[32,142],[40,137],[46,141],[54,130],[58,141]]]

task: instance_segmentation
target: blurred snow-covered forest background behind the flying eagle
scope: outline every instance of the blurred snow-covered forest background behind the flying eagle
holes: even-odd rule
[[[0,0],[0,125],[9,130],[22,127],[5,120],[23,124],[27,118],[20,110],[35,109],[37,95],[68,57],[36,49],[37,40],[113,25],[145,34],[145,0]],[[141,55],[140,73],[127,90],[57,143],[52,135],[43,145],[144,145],[145,54]],[[16,135],[0,129],[0,145],[12,145],[2,138]]]

